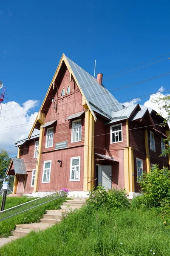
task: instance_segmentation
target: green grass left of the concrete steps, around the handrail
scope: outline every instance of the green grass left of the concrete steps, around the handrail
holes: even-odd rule
[[[19,204],[26,203],[35,198],[26,198],[26,197],[13,197],[6,198],[5,209],[17,206]],[[0,200],[1,201],[1,200]],[[0,237],[10,236],[11,230],[14,230],[16,224],[26,224],[39,222],[42,215],[45,214],[46,210],[51,209],[60,209],[63,199],[59,198],[57,200],[51,201],[47,204],[43,204],[34,209],[28,210],[26,212],[15,215],[14,217],[8,218],[4,221],[0,221]]]

